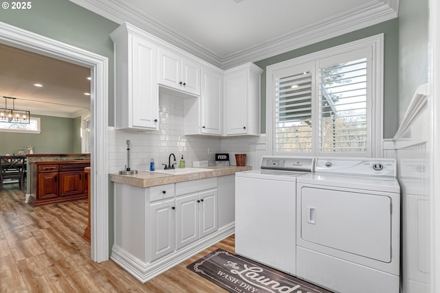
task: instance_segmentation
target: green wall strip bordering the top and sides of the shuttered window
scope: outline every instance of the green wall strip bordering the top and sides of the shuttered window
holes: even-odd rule
[[[261,132],[266,132],[266,67],[278,62],[304,56],[323,49],[328,49],[344,43],[359,40],[376,34],[384,34],[384,138],[392,138],[397,131],[397,80],[398,80],[398,56],[399,51],[399,21],[393,19],[379,23],[362,30],[344,34],[336,38],[330,38],[313,45],[288,51],[258,62],[256,65],[264,69],[261,75]]]

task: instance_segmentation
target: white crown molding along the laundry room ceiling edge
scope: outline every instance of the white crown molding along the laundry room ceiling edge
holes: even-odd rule
[[[263,43],[234,52],[228,56],[219,56],[203,45],[174,32],[153,16],[137,10],[124,0],[69,0],[105,18],[122,24],[129,22],[146,32],[184,49],[188,53],[210,62],[221,69],[229,69],[245,62],[256,62],[292,51],[300,47],[318,43],[322,40],[341,36],[364,27],[382,23],[398,16],[399,0],[377,0],[373,5],[344,12],[329,19],[323,19],[300,30],[290,32]]]

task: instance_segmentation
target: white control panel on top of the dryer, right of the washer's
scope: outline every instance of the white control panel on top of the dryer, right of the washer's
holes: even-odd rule
[[[364,176],[396,176],[394,159],[317,158],[316,173]]]

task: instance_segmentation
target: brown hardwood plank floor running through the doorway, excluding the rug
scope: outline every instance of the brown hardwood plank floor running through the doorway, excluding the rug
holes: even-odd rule
[[[234,253],[234,236],[143,284],[111,260],[90,259],[86,226],[87,200],[33,208],[18,185],[3,187],[0,292],[228,292],[186,266],[217,248]]]

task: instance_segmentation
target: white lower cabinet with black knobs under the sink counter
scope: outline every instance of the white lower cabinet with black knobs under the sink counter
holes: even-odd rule
[[[232,235],[234,222],[218,228],[217,197],[217,177],[146,188],[115,183],[111,259],[146,282]]]

